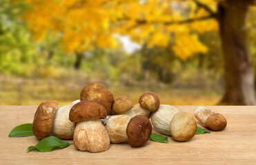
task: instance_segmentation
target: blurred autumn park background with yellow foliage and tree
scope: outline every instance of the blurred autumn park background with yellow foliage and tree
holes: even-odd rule
[[[255,104],[253,0],[0,0],[0,105],[103,83],[137,103]]]

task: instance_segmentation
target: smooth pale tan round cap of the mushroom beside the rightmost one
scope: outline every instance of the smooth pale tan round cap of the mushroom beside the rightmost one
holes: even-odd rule
[[[170,121],[170,135],[174,140],[185,142],[190,140],[197,132],[197,122],[193,115],[179,112]]]

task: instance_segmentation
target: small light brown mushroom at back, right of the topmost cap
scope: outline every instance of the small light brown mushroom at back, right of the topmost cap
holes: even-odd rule
[[[112,104],[112,113],[117,115],[129,115],[134,117],[136,114],[132,110],[133,102],[126,96],[117,96]]]

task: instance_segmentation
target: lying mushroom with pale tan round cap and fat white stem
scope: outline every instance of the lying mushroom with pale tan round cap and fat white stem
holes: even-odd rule
[[[190,140],[197,131],[197,122],[190,113],[181,112],[171,105],[161,104],[152,113],[151,122],[155,129],[174,140],[184,142]]]

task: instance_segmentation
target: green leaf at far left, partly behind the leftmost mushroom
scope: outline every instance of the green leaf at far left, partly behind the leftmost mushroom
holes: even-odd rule
[[[16,126],[12,131],[10,131],[9,137],[14,136],[32,136],[34,135],[32,131],[32,123],[21,124]]]

